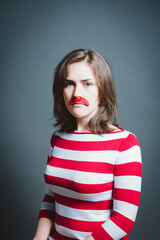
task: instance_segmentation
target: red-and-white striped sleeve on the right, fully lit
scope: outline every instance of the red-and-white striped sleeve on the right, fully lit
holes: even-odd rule
[[[129,134],[118,149],[114,168],[113,214],[92,233],[95,240],[129,239],[141,191],[142,162],[137,138]]]

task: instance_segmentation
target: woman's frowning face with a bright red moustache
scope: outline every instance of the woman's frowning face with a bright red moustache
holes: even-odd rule
[[[76,119],[89,122],[97,112],[98,84],[88,63],[78,62],[68,66],[63,97],[66,108]]]

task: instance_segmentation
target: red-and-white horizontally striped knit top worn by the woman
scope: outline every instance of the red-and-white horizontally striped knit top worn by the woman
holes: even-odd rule
[[[127,240],[137,215],[142,164],[137,138],[117,132],[55,133],[39,218],[54,219],[54,240]]]

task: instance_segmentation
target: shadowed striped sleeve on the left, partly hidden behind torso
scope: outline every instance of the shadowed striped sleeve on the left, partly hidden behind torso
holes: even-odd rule
[[[50,141],[50,153],[48,155],[48,161],[51,158],[53,147],[54,147],[54,134],[52,135],[51,141]],[[54,193],[49,189],[48,184],[46,184],[46,191],[45,195],[41,204],[39,217],[38,218],[49,218],[51,220],[54,220],[55,218],[55,198]]]

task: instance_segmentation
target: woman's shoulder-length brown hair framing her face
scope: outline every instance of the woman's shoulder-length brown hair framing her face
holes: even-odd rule
[[[76,62],[87,62],[94,71],[99,87],[99,110],[89,122],[89,130],[94,133],[111,132],[110,124],[118,126],[117,102],[114,82],[108,62],[95,50],[76,49],[68,53],[55,69],[53,96],[53,113],[56,118],[54,126],[59,132],[70,132],[77,128],[76,119],[67,110],[63,90],[68,75],[68,66]]]

